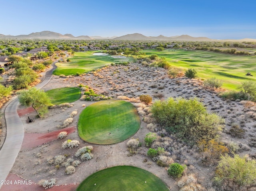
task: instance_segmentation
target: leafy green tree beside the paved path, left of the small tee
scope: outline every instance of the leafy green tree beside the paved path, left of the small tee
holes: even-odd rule
[[[51,105],[48,95],[35,87],[23,90],[18,95],[20,104],[24,106],[32,106],[39,117],[44,116],[48,112],[48,106]]]

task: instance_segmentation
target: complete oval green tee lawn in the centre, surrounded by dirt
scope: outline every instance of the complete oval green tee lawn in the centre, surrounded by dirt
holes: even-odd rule
[[[114,144],[128,139],[140,128],[136,108],[122,100],[104,100],[86,107],[78,120],[78,134],[93,144]]]

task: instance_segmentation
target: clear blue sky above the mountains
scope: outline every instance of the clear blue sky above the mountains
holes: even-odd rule
[[[252,0],[0,0],[0,33],[256,39]]]

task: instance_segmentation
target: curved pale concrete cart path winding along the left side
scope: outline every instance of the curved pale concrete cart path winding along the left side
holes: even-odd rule
[[[44,81],[42,81],[36,87],[41,89],[50,81],[52,78],[52,72],[54,69],[56,69],[55,63],[56,62],[52,64],[52,69],[46,72]],[[14,97],[4,112],[7,132],[4,145],[0,150],[0,188],[2,187],[1,181],[6,179],[8,173],[14,165],[24,138],[24,126],[17,113],[18,105],[19,100],[17,97]]]

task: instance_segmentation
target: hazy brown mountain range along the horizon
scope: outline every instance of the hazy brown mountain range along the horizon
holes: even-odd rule
[[[159,35],[156,37],[153,36],[145,36],[140,33],[133,33],[127,34],[120,37],[113,36],[113,37],[101,37],[101,36],[73,36],[72,34],[60,34],[51,31],[42,31],[42,32],[35,32],[30,33],[28,35],[3,35],[0,34],[0,38],[17,38],[17,39],[81,39],[81,40],[92,40],[92,39],[112,39],[112,40],[154,40],[154,41],[216,41],[214,39],[210,39],[207,37],[192,37],[190,35],[180,35],[180,36],[163,36]],[[256,39],[239,39],[239,40],[232,40],[228,39],[229,41],[256,41]]]

